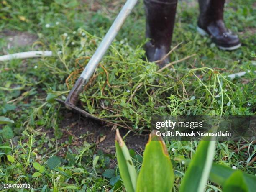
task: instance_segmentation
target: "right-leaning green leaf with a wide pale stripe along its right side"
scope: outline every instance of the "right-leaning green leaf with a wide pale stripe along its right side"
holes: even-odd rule
[[[215,141],[200,141],[195,156],[189,163],[179,192],[204,192],[212,167],[215,153]]]

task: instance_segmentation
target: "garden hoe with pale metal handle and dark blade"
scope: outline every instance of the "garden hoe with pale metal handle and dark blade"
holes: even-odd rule
[[[69,92],[67,100],[64,102],[62,100],[56,99],[58,102],[60,102],[61,104],[64,104],[68,109],[74,110],[78,113],[81,113],[82,115],[84,115],[86,117],[90,117],[90,118],[93,118],[96,120],[102,120],[102,119],[97,118],[94,115],[91,115],[90,113],[78,108],[76,106],[78,97],[79,97],[79,94],[84,90],[84,85],[86,85],[88,83],[90,77],[92,77],[92,75],[95,72],[95,69],[97,68],[97,66],[99,65],[102,57],[104,56],[105,52],[108,50],[108,47],[110,46],[113,39],[117,35],[117,33],[120,30],[121,26],[123,25],[125,19],[131,13],[131,10],[136,5],[137,1],[138,0],[127,0],[126,1],[122,10],[118,14],[118,16],[115,18],[114,23],[108,30],[108,33],[102,39],[97,50],[92,55],[92,58],[88,62],[87,66],[84,68],[84,71],[82,72],[80,77],[77,79],[77,82],[75,83],[72,90]]]

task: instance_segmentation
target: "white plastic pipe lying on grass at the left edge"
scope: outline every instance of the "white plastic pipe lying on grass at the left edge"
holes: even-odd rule
[[[9,61],[11,59],[27,59],[33,57],[48,57],[52,56],[52,51],[28,51],[9,55],[0,56],[0,61]]]

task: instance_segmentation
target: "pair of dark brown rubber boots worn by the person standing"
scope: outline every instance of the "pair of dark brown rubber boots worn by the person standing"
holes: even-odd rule
[[[161,60],[169,51],[178,0],[144,0],[146,8],[146,44],[148,61]],[[223,50],[234,50],[241,46],[238,36],[225,27],[223,21],[225,0],[199,0],[200,15],[197,31],[209,35]],[[166,57],[160,63],[169,63]]]

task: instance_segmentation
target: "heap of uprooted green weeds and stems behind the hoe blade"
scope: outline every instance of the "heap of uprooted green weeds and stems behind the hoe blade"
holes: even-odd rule
[[[77,33],[62,39],[64,45],[73,46],[73,40],[80,39],[77,47],[72,48],[75,50],[72,57],[77,58],[76,67],[66,79],[67,87],[73,86],[90,60],[95,44],[100,42],[87,31]],[[253,114],[253,109],[248,108],[255,102],[253,79],[256,67],[251,64],[252,61],[247,61],[245,65],[250,70],[246,74],[250,80],[246,83],[241,82],[241,78],[231,81],[226,77],[231,71],[218,67],[218,64],[207,67],[209,65],[198,54],[189,51],[186,54],[190,55],[184,57],[179,50],[189,49],[188,45],[180,46],[172,49],[172,52],[177,51],[177,60],[159,69],[156,63],[143,59],[143,46],[133,48],[127,38],[115,41],[84,87],[80,98],[84,110],[133,131],[149,128],[151,117],[156,115]],[[187,66],[180,66],[182,62]],[[63,64],[68,68],[64,61]]]

